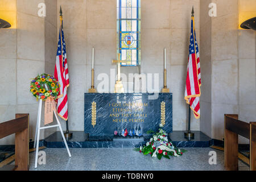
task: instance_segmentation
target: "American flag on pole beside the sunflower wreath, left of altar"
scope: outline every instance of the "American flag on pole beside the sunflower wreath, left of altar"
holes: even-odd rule
[[[65,121],[68,119],[68,95],[67,88],[69,86],[68,63],[66,45],[63,33],[63,20],[61,19],[59,42],[57,46],[56,64],[54,77],[60,83],[60,92],[57,99],[57,113]]]

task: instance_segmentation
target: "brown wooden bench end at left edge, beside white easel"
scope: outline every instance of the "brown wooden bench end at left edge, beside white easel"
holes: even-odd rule
[[[14,171],[28,170],[29,114],[15,114],[10,121],[0,123],[0,139],[15,133]]]

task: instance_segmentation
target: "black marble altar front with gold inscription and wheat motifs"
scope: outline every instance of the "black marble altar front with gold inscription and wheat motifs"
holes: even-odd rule
[[[92,125],[92,102],[96,102],[96,125]],[[166,104],[166,124],[163,129],[172,132],[172,93],[85,93],[84,132],[90,137],[113,137],[117,130],[141,127],[158,131],[161,102]]]

